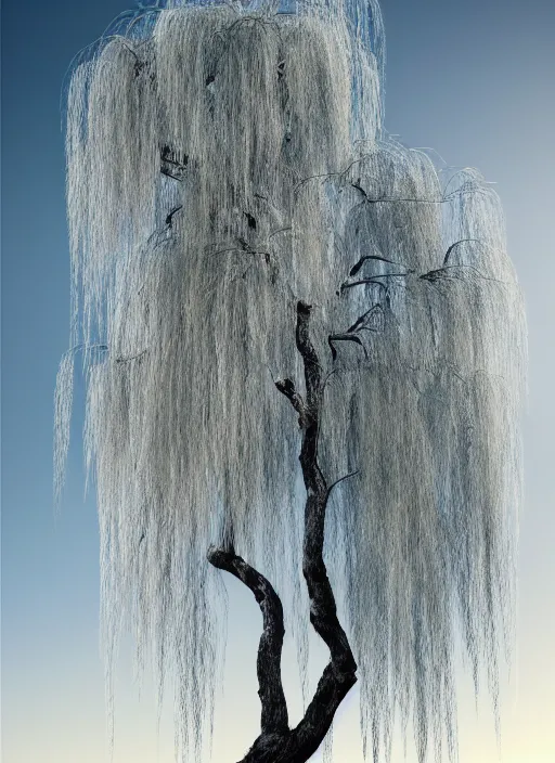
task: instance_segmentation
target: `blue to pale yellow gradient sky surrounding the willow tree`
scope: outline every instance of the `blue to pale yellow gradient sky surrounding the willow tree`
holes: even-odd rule
[[[128,7],[126,0],[4,0],[2,8],[4,763],[106,760],[99,539],[94,503],[82,501],[80,414],[57,519],[51,500],[52,398],[69,314],[60,90],[72,56]],[[501,753],[504,763],[553,763],[555,3],[383,0],[382,8],[386,126],[404,143],[431,146],[449,165],[478,167],[498,182],[509,253],[527,300],[530,397],[518,649],[503,702]],[[249,592],[229,576],[227,582],[228,680],[216,717],[217,763],[238,760],[258,728],[260,616]],[[171,708],[163,713],[157,742],[152,686],[146,680],[139,700],[126,654],[118,673],[114,763],[170,763]],[[319,657],[314,680],[325,652]],[[286,690],[295,698],[289,658],[286,648]],[[481,696],[478,712],[468,682],[462,681],[461,763],[499,760]],[[356,690],[338,713],[334,753],[336,763],[362,761]],[[399,747],[393,763],[400,760]],[[406,760],[415,760],[411,745]]]

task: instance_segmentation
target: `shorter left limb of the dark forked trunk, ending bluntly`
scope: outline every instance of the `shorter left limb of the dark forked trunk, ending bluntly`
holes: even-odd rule
[[[231,572],[255,595],[263,620],[257,659],[258,696],[262,706],[261,732],[263,735],[287,732],[287,704],[281,676],[285,629],[280,597],[270,582],[233,549],[210,546],[207,556],[211,565]]]

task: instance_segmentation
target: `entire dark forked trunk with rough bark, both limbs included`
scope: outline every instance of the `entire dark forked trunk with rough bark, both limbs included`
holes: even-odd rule
[[[310,339],[310,306],[297,303],[296,345],[305,366],[305,398],[297,392],[292,379],[276,382],[275,386],[299,416],[302,435],[299,461],[307,490],[302,573],[310,597],[310,622],[330,649],[330,662],[322,673],[305,717],[291,729],[281,678],[285,630],[280,597],[269,581],[237,556],[231,545],[228,548],[210,547],[208,560],[215,567],[231,572],[250,589],[263,618],[257,659],[261,703],[260,736],[241,763],[308,761],[323,741],[337,708],[357,683],[357,663],[337,618],[334,593],[323,558],[325,509],[330,493],[337,482],[328,486],[318,463],[323,383],[322,368]]]

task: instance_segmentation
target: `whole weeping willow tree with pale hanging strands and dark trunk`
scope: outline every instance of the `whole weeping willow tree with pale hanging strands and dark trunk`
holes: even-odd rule
[[[79,351],[108,697],[131,629],[160,697],[176,676],[183,761],[208,754],[222,570],[263,616],[244,763],[308,760],[357,680],[365,756],[400,724],[454,760],[457,643],[496,702],[521,299],[491,187],[385,133],[383,61],[374,0],[169,0],[72,69],[56,490]]]

